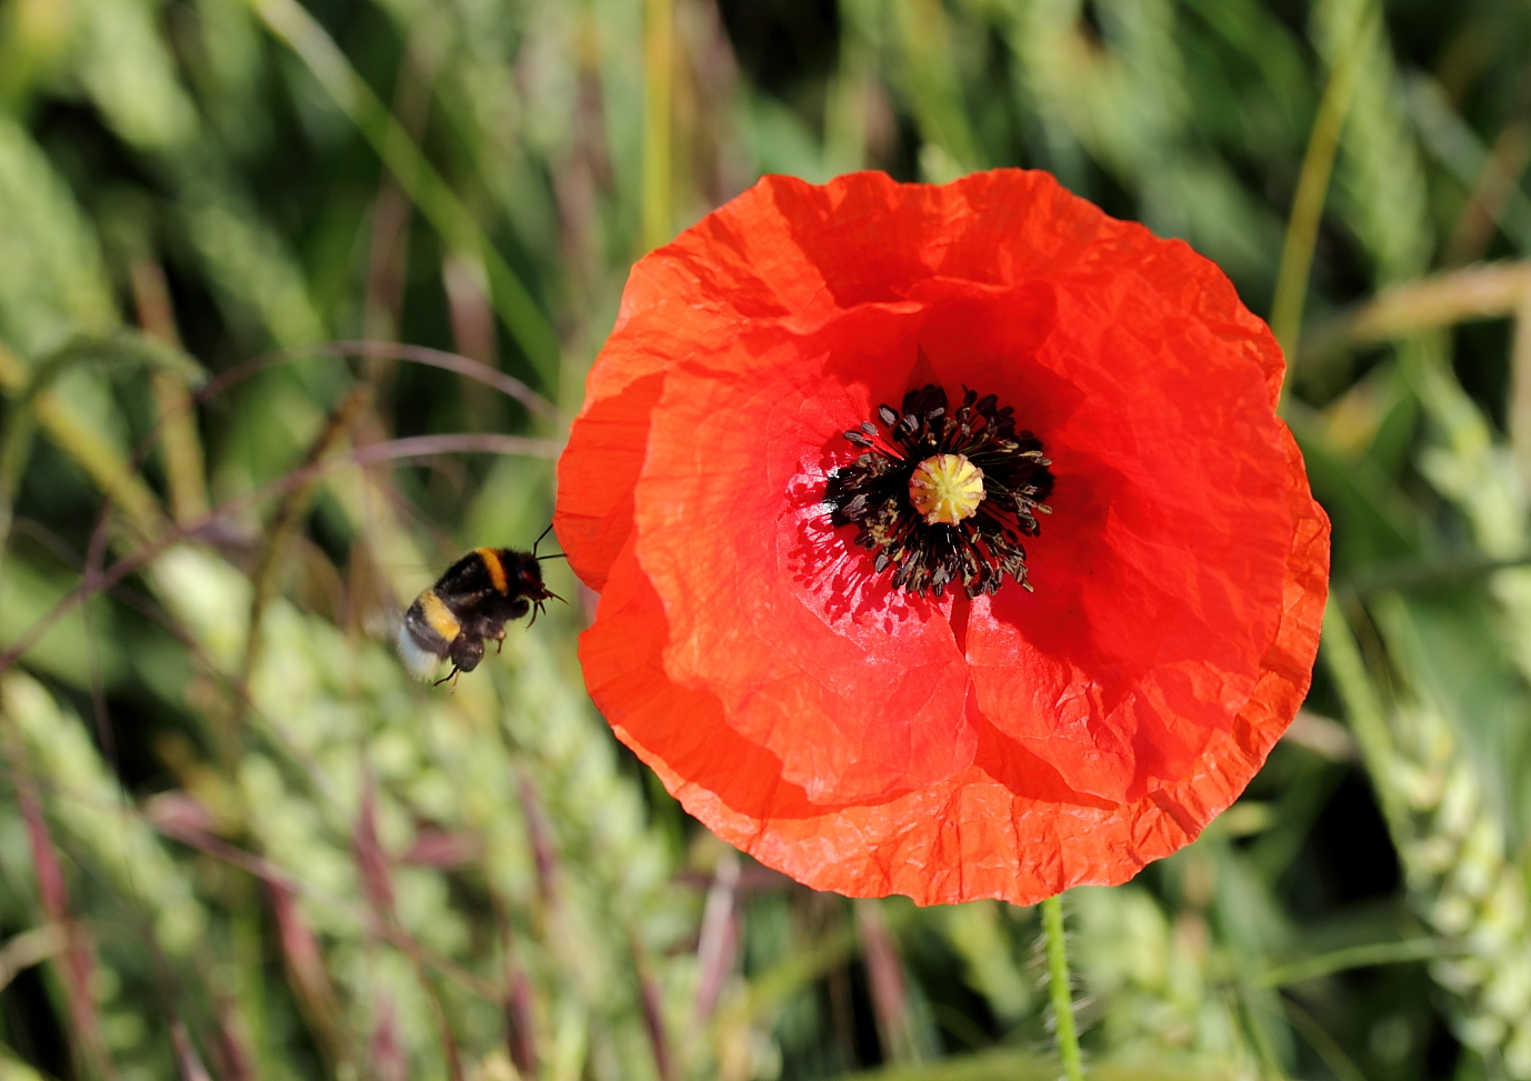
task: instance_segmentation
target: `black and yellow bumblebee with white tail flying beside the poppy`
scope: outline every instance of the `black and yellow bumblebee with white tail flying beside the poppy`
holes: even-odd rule
[[[441,661],[450,660],[452,671],[436,680],[438,684],[478,668],[485,638],[504,646],[507,622],[533,608],[536,622],[544,600],[562,600],[542,585],[544,559],[557,556],[537,556],[536,545],[531,551],[475,548],[449,567],[404,612],[404,625],[398,629],[398,655],[404,668],[429,680]]]

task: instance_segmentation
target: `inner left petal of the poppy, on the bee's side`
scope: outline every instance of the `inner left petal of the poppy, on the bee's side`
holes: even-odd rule
[[[873,582],[822,511],[839,433],[902,389],[922,317],[860,305],[808,335],[744,335],[675,366],[651,420],[637,557],[664,602],[666,672],[717,694],[816,801],[885,798],[972,759],[949,599]],[[900,349],[882,387],[842,381]]]

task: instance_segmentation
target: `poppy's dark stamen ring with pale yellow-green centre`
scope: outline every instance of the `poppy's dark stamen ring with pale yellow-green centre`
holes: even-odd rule
[[[969,597],[995,593],[1004,576],[1026,580],[1023,536],[1053,487],[1052,465],[1015,410],[995,395],[963,394],[955,410],[929,384],[903,395],[903,409],[845,433],[862,455],[830,473],[824,502],[834,525],[856,525],[856,544],[877,554],[877,573],[908,593],[942,596],[949,583]]]

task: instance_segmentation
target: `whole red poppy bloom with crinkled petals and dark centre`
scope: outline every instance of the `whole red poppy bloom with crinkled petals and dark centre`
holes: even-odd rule
[[[585,678],[821,890],[1030,903],[1190,842],[1307,689],[1329,524],[1208,260],[1050,176],[772,176],[632,271],[559,465]]]

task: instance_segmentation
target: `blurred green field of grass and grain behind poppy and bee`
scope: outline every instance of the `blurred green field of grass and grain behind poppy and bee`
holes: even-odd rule
[[[631,262],[762,171],[1052,170],[1271,318],[1309,707],[1069,894],[1102,1079],[1531,1078],[1520,0],[0,0],[0,1081],[1056,1076],[1038,923],[810,893],[452,692]]]

